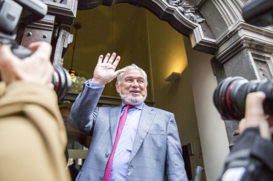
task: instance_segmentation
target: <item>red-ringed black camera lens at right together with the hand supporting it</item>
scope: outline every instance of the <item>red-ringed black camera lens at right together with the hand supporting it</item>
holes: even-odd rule
[[[223,120],[241,120],[240,133],[248,127],[259,126],[261,136],[272,140],[273,80],[228,77],[218,84],[213,102]]]

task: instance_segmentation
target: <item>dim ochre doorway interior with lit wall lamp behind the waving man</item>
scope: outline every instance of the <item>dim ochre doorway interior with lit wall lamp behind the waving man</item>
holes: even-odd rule
[[[147,100],[157,108],[173,112],[182,145],[194,145],[195,152],[190,156],[194,177],[195,167],[204,166],[183,43],[185,36],[147,9],[127,3],[99,6],[77,13],[75,22],[81,23],[82,28],[77,31],[73,69],[79,75],[82,73],[81,76],[91,78],[97,57],[112,51],[121,56],[118,68],[131,63],[142,67],[149,79]],[[75,34],[72,26],[71,33]],[[70,46],[63,57],[66,68],[70,68],[72,51]],[[181,73],[181,78],[165,82],[172,72]],[[114,83],[106,85],[104,96],[119,98]]]

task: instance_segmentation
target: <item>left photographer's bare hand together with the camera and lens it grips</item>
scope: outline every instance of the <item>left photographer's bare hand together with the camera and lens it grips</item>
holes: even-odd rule
[[[52,83],[49,83],[49,85],[54,87],[60,104],[63,102],[72,83],[70,75],[65,68],[53,66],[54,71],[47,68],[50,61],[46,60],[50,60],[51,46],[45,43],[33,43],[30,45],[30,49],[28,49],[15,41],[19,25],[26,27],[30,23],[43,18],[46,14],[47,5],[40,0],[0,0],[0,44],[5,44],[5,46],[1,47],[3,49],[1,50],[3,53],[1,58],[4,58],[4,60],[14,59],[12,61],[2,61],[3,66],[6,66],[3,68],[7,68],[5,71],[8,71],[8,73],[1,72],[1,75],[7,84],[15,80],[28,80],[43,84],[48,82],[49,78],[47,75],[51,73]],[[37,52],[32,55],[32,51]],[[37,62],[32,61],[34,59],[38,59]],[[24,60],[26,62],[17,62],[17,65],[14,62],[17,60]],[[0,64],[0,66],[2,65]],[[42,70],[40,69],[41,67],[35,68],[36,66],[46,67]],[[15,74],[10,76],[9,73],[12,74],[12,71]],[[44,76],[35,76],[36,73]]]

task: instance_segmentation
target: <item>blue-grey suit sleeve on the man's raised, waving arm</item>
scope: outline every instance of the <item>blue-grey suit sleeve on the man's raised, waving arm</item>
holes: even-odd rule
[[[98,108],[96,107],[104,87],[90,87],[90,80],[85,82],[81,93],[76,98],[69,116],[69,124],[91,136]]]

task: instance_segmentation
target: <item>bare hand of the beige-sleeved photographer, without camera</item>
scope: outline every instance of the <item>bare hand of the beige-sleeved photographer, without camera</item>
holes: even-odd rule
[[[23,60],[12,54],[8,45],[0,45],[1,79],[7,85],[15,81],[47,84],[53,88],[54,68],[50,62],[51,45],[46,42],[30,44],[34,53]]]

